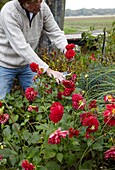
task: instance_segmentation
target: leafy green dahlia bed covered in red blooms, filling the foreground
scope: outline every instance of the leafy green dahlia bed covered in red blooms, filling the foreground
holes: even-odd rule
[[[67,46],[68,51],[73,48]],[[1,170],[114,168],[115,95],[92,98],[81,88],[81,73],[99,64],[98,59],[94,60],[94,54],[93,59],[90,54],[81,58],[77,53],[72,58],[60,55],[56,62],[52,52],[50,65],[71,72],[65,81],[57,84],[31,63],[37,74],[34,87],[25,93],[15,90],[0,101]],[[47,60],[45,54],[43,57]],[[84,86],[87,77],[85,74]]]

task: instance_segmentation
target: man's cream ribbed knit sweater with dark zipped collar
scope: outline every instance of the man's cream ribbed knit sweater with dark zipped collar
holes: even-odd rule
[[[34,52],[43,29],[51,42],[63,51],[67,40],[44,1],[31,26],[18,0],[7,2],[0,12],[0,66],[17,68],[35,62],[45,72],[49,66]]]

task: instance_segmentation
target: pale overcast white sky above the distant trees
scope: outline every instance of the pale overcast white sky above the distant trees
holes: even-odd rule
[[[66,9],[115,8],[115,0],[66,0]]]

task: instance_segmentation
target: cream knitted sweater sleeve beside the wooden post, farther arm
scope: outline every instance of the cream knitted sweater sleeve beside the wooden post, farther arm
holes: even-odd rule
[[[65,51],[65,46],[68,44],[64,32],[59,28],[55,21],[50,8],[44,2],[44,31],[48,35],[49,39],[58,49],[62,52]]]

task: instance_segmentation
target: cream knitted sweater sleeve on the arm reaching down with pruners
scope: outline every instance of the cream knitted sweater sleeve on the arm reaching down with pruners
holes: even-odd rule
[[[49,66],[38,57],[30,44],[26,42],[18,19],[12,15],[12,11],[8,11],[7,9],[1,11],[1,24],[11,47],[28,64],[35,62],[45,72]]]

